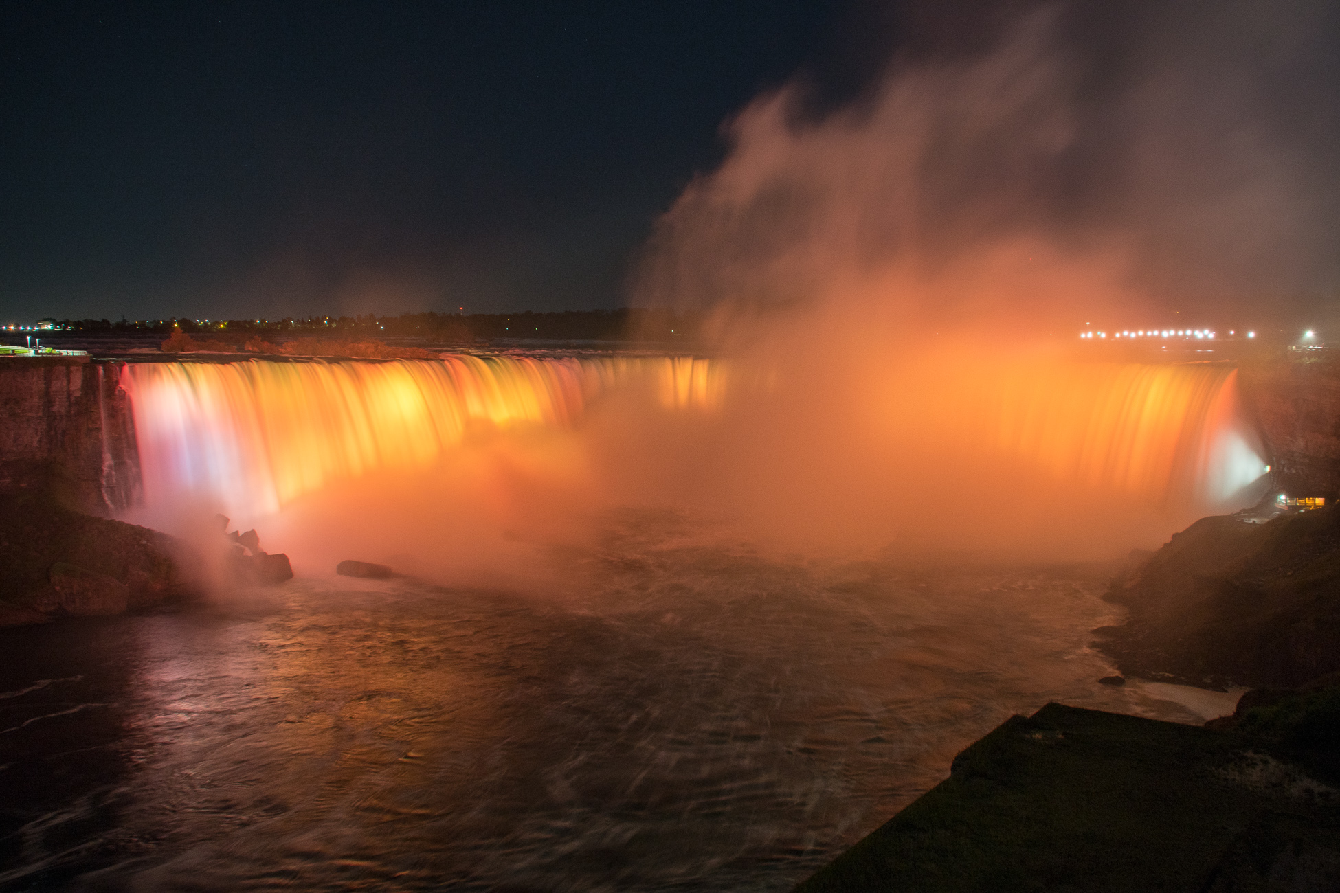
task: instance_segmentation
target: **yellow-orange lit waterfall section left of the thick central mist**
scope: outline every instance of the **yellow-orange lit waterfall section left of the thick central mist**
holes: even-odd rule
[[[426,467],[477,426],[571,426],[587,402],[650,379],[662,404],[713,407],[693,357],[146,363],[126,371],[145,499],[204,493],[273,511],[326,483]]]

